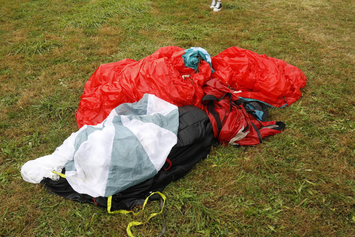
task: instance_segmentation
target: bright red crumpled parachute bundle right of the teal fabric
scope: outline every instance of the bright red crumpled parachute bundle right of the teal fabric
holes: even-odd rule
[[[302,95],[306,76],[283,60],[230,47],[212,58],[213,76],[226,82],[239,97],[257,99],[270,106],[292,104]]]

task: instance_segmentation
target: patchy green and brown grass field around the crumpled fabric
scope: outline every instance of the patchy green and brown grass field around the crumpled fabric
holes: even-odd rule
[[[77,130],[84,83],[103,63],[159,47],[237,46],[299,67],[303,96],[271,109],[283,133],[214,147],[164,191],[166,236],[355,236],[355,2],[0,0],[0,236],[126,236],[109,215],[24,182],[22,164]],[[132,228],[157,236],[160,216]]]

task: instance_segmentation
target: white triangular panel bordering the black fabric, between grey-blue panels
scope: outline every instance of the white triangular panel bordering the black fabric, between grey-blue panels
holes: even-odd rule
[[[127,120],[121,116],[122,124],[132,131],[141,142],[157,172],[163,167],[171,148],[178,137],[171,131],[153,123],[144,123],[137,119]]]

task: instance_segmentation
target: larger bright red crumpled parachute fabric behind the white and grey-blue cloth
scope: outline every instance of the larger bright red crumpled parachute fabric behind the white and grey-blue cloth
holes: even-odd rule
[[[101,123],[112,109],[133,103],[144,93],[184,106],[201,108],[201,87],[211,76],[211,67],[201,61],[199,72],[185,67],[184,49],[163,47],[139,61],[124,59],[102,64],[86,82],[75,114],[78,127]],[[189,75],[182,79],[182,75]]]

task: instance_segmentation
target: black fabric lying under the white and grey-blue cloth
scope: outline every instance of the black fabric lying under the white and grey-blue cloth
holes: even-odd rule
[[[169,167],[169,163],[165,162],[154,177],[113,195],[111,211],[131,210],[135,206],[142,205],[150,193],[161,192],[166,185],[185,176],[197,162],[207,157],[213,142],[215,139],[212,124],[206,112],[195,106],[179,107],[178,142],[168,156],[171,167],[164,171]],[[58,181],[45,178],[43,183],[48,190],[56,195],[107,208],[107,198],[97,197],[94,199],[87,194],[79,194],[71,188],[65,178],[60,178]],[[159,198],[159,195],[154,194],[149,198],[149,201]]]

